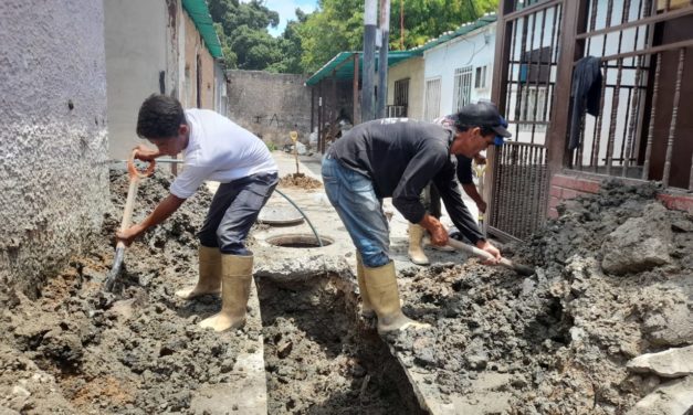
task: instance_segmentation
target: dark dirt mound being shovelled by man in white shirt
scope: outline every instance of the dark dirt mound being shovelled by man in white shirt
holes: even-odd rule
[[[168,194],[156,173],[136,199],[140,221]],[[32,301],[15,294],[0,320],[0,407],[21,413],[145,414],[186,411],[195,391],[229,380],[240,339],[201,330],[220,308],[217,297],[182,301],[172,295],[197,279],[197,240],[211,195],[202,189],[125,254],[116,294],[102,291],[113,264],[128,181],[112,173],[113,214],[98,243],[51,278]],[[248,342],[246,342],[248,343]]]

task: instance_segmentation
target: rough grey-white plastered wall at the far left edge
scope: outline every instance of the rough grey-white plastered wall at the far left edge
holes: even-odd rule
[[[0,2],[0,304],[88,246],[109,206],[104,11]]]

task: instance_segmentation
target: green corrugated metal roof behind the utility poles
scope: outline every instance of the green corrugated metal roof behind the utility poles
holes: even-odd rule
[[[464,23],[458,30],[445,32],[442,35],[428,41],[426,44],[421,46],[417,46],[410,49],[408,51],[391,51],[388,53],[388,66],[393,66],[402,61],[406,61],[410,57],[421,56],[424,51],[428,51],[431,47],[438,46],[441,43],[448,42],[452,39],[463,36],[469,34],[470,32],[475,31],[476,29],[481,29],[486,26],[493,22],[495,22],[497,15],[495,13],[486,14],[473,22]],[[337,79],[351,79],[354,78],[354,64],[347,63],[345,61],[351,60],[355,54],[359,55],[358,65],[359,65],[359,74],[363,73],[364,67],[364,54],[361,52],[339,52],[335,57],[333,57],[329,62],[327,62],[323,67],[321,67],[316,73],[314,73],[307,81],[306,85],[316,85],[318,82],[326,77],[330,77],[332,73],[337,70]],[[376,70],[378,65],[378,54],[376,53]]]

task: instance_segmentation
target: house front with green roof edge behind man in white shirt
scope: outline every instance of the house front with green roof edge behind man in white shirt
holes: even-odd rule
[[[204,0],[105,1],[108,153],[140,143],[137,110],[151,94],[225,115],[221,46]]]

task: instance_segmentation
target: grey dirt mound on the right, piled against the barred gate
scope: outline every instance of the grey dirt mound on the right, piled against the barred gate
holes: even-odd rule
[[[474,259],[402,278],[406,312],[434,329],[390,341],[443,401],[455,391],[516,414],[623,413],[665,381],[626,363],[693,343],[693,219],[654,193],[613,182],[561,206],[510,249],[534,277]]]

